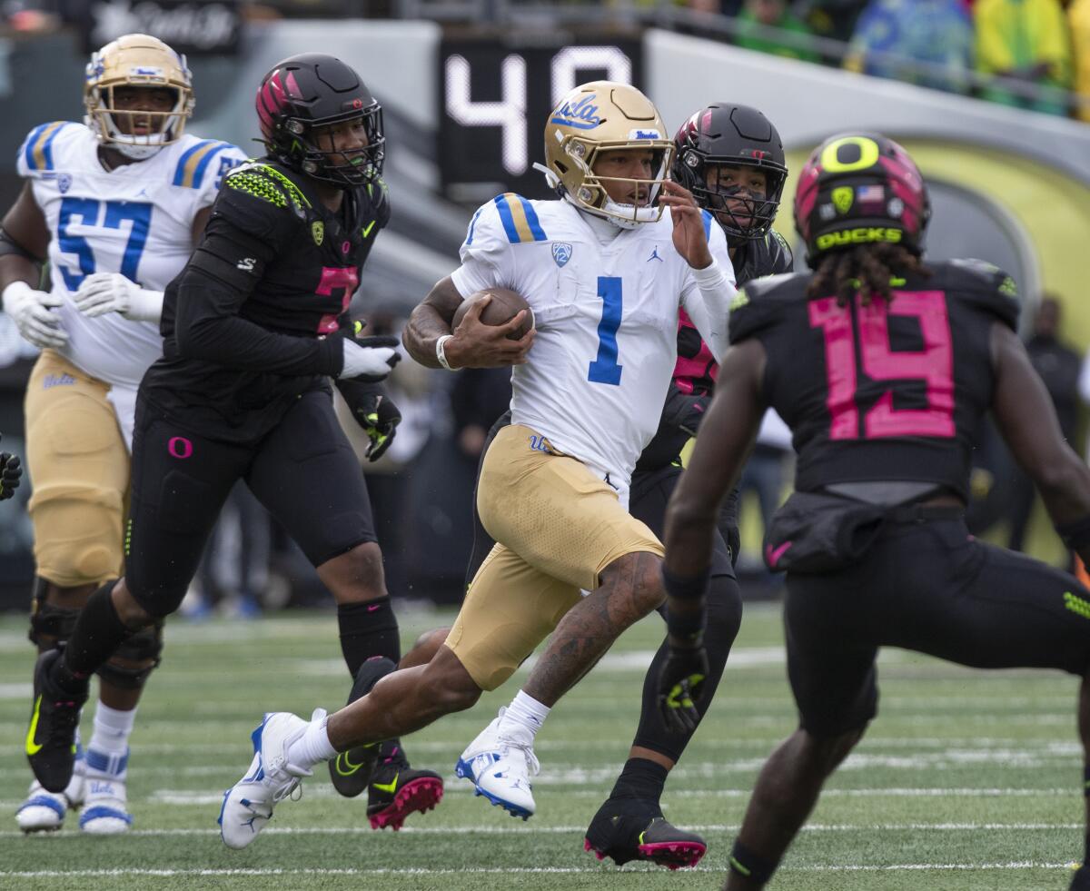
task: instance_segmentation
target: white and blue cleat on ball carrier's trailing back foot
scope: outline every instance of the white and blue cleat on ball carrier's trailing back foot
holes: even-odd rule
[[[325,717],[315,709],[311,720]],[[228,847],[245,847],[272,819],[272,808],[299,789],[313,771],[288,761],[288,748],[306,732],[307,722],[289,711],[266,712],[250,739],[254,759],[239,782],[223,793],[219,833]]]

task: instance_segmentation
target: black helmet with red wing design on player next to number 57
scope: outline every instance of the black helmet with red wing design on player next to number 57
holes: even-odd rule
[[[350,187],[383,172],[383,108],[340,59],[305,52],[275,65],[257,88],[257,118],[269,155],[292,170]],[[316,129],[356,118],[364,121],[366,147],[332,151],[331,143],[326,148],[317,144]]]

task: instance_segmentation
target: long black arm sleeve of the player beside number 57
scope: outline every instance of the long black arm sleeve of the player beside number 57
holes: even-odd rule
[[[291,249],[291,227],[266,227],[264,237],[258,239],[250,234],[252,230],[235,227],[228,216],[217,205],[178,280],[174,340],[179,354],[228,368],[280,375],[339,374],[344,362],[340,338],[277,334],[239,316],[266,264]]]

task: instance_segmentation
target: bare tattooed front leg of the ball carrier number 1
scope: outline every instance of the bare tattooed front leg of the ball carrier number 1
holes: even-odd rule
[[[552,707],[613,646],[621,633],[663,602],[653,553],[628,553],[602,572],[602,585],[568,610],[522,691]]]

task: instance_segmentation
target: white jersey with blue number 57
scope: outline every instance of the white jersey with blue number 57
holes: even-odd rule
[[[158,325],[118,313],[87,318],[70,295],[93,272],[121,272],[162,291],[193,253],[193,218],[245,155],[230,143],[185,134],[147,160],[107,171],[98,145],[83,124],[41,124],[20,147],[16,168],[31,181],[49,229],[52,292],[63,298],[57,312],[69,334],[59,352],[92,377],[134,390],[162,355]],[[119,420],[126,426],[120,412]]]

